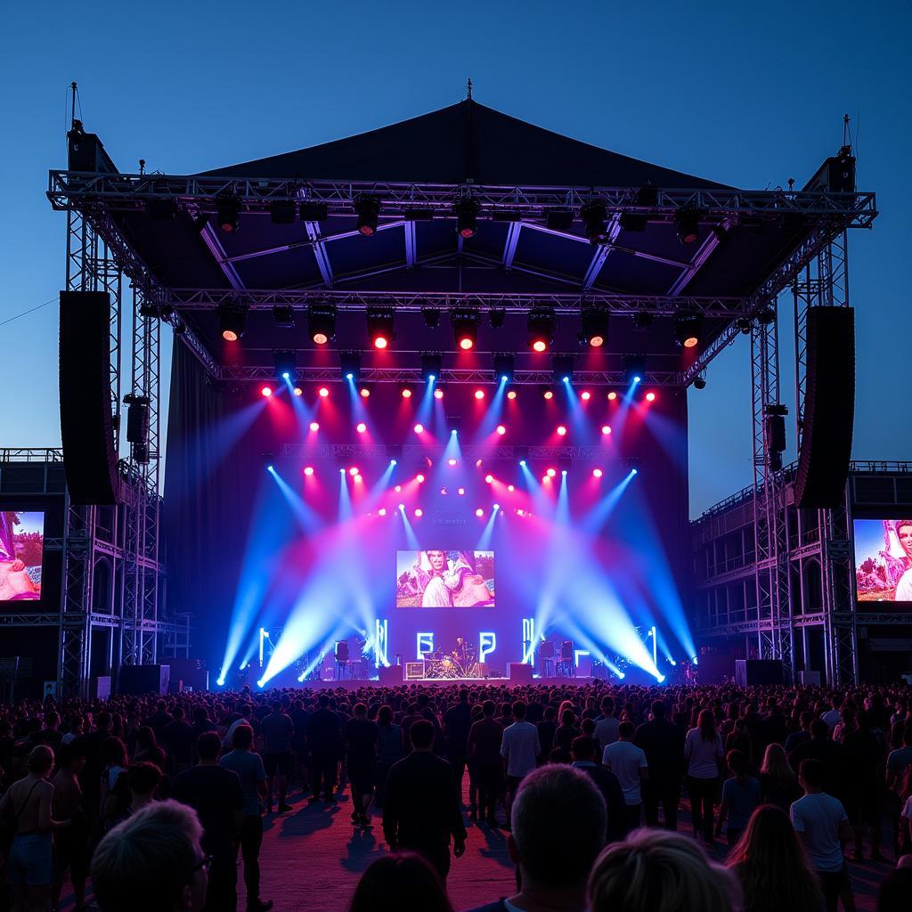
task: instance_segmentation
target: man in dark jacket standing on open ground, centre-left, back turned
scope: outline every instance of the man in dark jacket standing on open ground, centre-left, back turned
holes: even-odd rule
[[[456,776],[448,762],[431,753],[434,728],[429,720],[412,722],[409,738],[411,753],[389,771],[383,834],[390,851],[424,855],[446,880],[451,838],[457,858],[465,852],[467,838]]]

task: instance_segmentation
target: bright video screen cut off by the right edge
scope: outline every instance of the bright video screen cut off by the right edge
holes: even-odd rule
[[[855,520],[855,587],[862,609],[912,603],[912,518]]]

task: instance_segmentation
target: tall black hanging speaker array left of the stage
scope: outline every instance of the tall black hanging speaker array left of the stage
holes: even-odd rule
[[[60,292],[60,438],[72,503],[119,499],[110,309],[107,292]]]

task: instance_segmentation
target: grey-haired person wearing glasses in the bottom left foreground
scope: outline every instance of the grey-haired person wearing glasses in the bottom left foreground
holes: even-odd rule
[[[92,856],[101,912],[200,912],[210,859],[194,811],[175,801],[150,804],[115,826]]]

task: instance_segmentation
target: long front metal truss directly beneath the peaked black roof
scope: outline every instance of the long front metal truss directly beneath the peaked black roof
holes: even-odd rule
[[[359,196],[380,200],[380,214],[401,219],[405,211],[452,218],[453,202],[471,196],[482,217],[511,216],[510,221],[540,218],[552,208],[579,208],[599,202],[606,211],[635,212],[670,221],[675,212],[696,208],[709,218],[801,215],[805,219],[838,220],[868,227],[876,216],[873,193],[807,191],[741,191],[727,188],[657,190],[654,205],[637,203],[634,187],[537,187],[489,184],[395,181],[326,181],[295,178],[229,178],[218,175],[100,174],[50,171],[47,197],[56,209],[69,202],[103,202],[110,209],[141,210],[153,199],[170,199],[180,206],[197,205],[214,212],[219,197],[233,196],[242,212],[268,212],[276,200],[325,202],[332,215],[355,212]],[[519,216],[517,219],[515,216]]]

